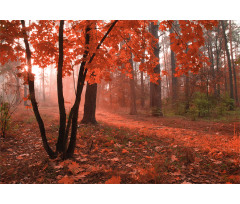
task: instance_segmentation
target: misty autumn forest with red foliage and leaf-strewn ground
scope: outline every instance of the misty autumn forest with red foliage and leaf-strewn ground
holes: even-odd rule
[[[0,20],[1,184],[240,184],[240,21]]]

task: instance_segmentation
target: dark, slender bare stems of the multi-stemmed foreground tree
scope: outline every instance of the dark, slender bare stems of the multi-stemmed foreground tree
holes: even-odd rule
[[[25,28],[25,22],[21,21],[21,23],[22,23],[22,27]],[[98,44],[97,49],[100,48],[101,44],[103,43],[103,41],[107,37],[108,33],[113,29],[113,27],[116,23],[117,23],[117,21],[114,21],[112,23],[112,25],[110,26],[107,33],[103,36],[102,40]],[[73,155],[74,148],[75,148],[75,143],[76,143],[78,109],[79,109],[80,100],[81,100],[80,96],[81,96],[81,93],[82,93],[82,89],[83,89],[83,86],[84,86],[84,81],[85,81],[86,74],[87,74],[87,69],[85,69],[85,65],[86,65],[86,58],[87,58],[87,55],[89,53],[89,51],[88,51],[88,48],[89,48],[88,46],[89,46],[89,41],[90,41],[89,31],[91,29],[90,29],[90,25],[87,24],[86,30],[85,30],[85,32],[86,32],[85,51],[84,51],[84,55],[83,55],[83,62],[81,63],[80,70],[79,70],[76,100],[75,100],[75,103],[74,103],[74,105],[73,105],[73,107],[70,111],[69,119],[68,119],[67,126],[66,126],[66,111],[65,111],[65,105],[64,105],[63,84],[62,84],[62,77],[63,77],[63,69],[62,69],[63,68],[63,27],[64,27],[64,21],[60,21],[60,26],[59,26],[59,59],[58,59],[58,73],[57,73],[57,88],[58,88],[57,90],[58,90],[58,104],[59,104],[59,113],[60,113],[60,125],[59,125],[59,136],[58,136],[58,142],[57,142],[57,145],[56,145],[56,150],[57,150],[57,152],[60,152],[60,153],[62,152],[63,157],[67,158],[67,157],[71,157]],[[37,102],[36,102],[36,99],[35,99],[34,77],[32,76],[32,70],[31,70],[31,66],[32,66],[31,65],[31,51],[30,51],[30,48],[29,48],[29,43],[28,43],[26,33],[24,33],[24,34],[25,34],[24,43],[25,43],[25,46],[26,46],[26,55],[27,55],[27,61],[28,61],[28,84],[29,84],[29,91],[30,91],[30,99],[31,99],[31,102],[32,102],[34,114],[35,114],[36,119],[37,119],[38,124],[39,124],[44,148],[47,151],[47,153],[49,154],[49,156],[51,158],[54,158],[54,157],[56,157],[57,152],[56,153],[53,152],[53,150],[48,145],[47,138],[46,138],[46,133],[45,133],[45,128],[44,128],[44,123],[43,123],[42,118],[39,114]],[[96,55],[95,53],[92,54],[88,63],[92,62],[95,55]],[[66,147],[67,138],[68,138],[69,129],[70,129],[71,124],[72,124],[71,138],[70,138],[69,146],[67,148]]]

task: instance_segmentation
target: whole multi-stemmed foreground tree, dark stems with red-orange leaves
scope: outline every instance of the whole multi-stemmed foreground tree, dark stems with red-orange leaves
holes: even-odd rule
[[[29,86],[29,98],[39,125],[43,146],[51,158],[55,158],[59,153],[63,158],[73,156],[79,105],[85,81],[94,83],[109,78],[110,72],[119,69],[123,64],[124,68],[121,71],[127,76],[131,76],[133,70],[132,59],[134,62],[140,63],[140,71],[147,72],[150,75],[151,82],[156,82],[156,84],[152,84],[152,93],[159,96],[159,87],[161,88],[159,86],[159,25],[156,21],[68,21],[68,25],[65,27],[64,23],[64,20],[60,22],[37,21],[31,23],[30,26],[26,26],[24,20],[0,22],[2,32],[0,40],[4,41],[1,49],[6,54],[0,56],[1,63],[6,63],[9,59],[14,61],[17,57],[21,60],[21,76]],[[145,24],[149,23],[151,24],[150,30],[152,34],[145,29]],[[211,28],[214,23],[194,21],[191,25],[199,30],[201,28],[200,24]],[[198,52],[198,48],[202,46],[199,43],[202,42],[201,30],[199,36],[194,37],[192,35],[191,38],[186,39],[189,31],[184,32],[184,30],[187,25],[182,23],[180,26],[182,27],[182,36],[175,39],[176,36],[172,36],[174,40],[171,45],[176,53],[176,64],[182,65],[181,72],[183,73],[186,70],[196,72],[195,65],[198,69],[201,68],[200,64],[196,62],[201,59]],[[96,27],[97,29],[95,29]],[[163,21],[160,28],[162,30],[171,28],[171,21]],[[96,30],[98,30],[98,34],[96,34]],[[140,33],[141,35],[139,35]],[[131,36],[130,39],[129,35]],[[23,39],[25,48],[19,47],[17,42],[19,39]],[[191,66],[189,67],[186,66],[186,60],[182,59],[179,53],[181,54],[182,47],[186,50],[183,45],[191,40],[194,46],[189,45],[190,48],[187,53],[187,59],[191,59]],[[125,41],[125,44],[119,50],[119,43],[122,41]],[[176,44],[177,41],[182,43],[182,47]],[[143,53],[147,53],[144,61],[142,60]],[[195,60],[192,59],[193,57]],[[35,97],[34,75],[32,73],[32,65],[45,68],[51,64],[57,65],[57,94],[60,116],[56,151],[53,151],[50,147],[46,137],[44,122]],[[26,65],[27,70],[24,69]],[[67,120],[62,78],[72,73],[72,65],[79,65],[80,68],[76,85],[76,98]],[[179,71],[180,68],[177,68]],[[161,95],[160,97],[152,95],[152,99],[152,107],[161,107],[159,103]]]

